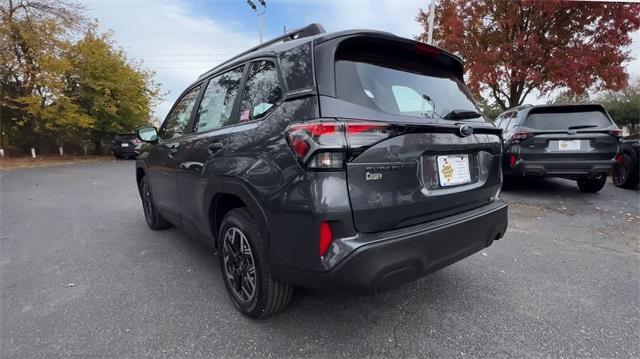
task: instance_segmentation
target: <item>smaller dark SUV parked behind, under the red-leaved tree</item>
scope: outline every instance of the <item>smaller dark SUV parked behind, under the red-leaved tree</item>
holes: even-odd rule
[[[621,160],[620,129],[599,104],[524,105],[495,124],[504,130],[505,176],[568,178],[594,193]]]

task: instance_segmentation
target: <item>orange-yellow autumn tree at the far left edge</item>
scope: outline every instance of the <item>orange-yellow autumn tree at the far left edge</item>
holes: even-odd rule
[[[61,54],[70,31],[84,23],[81,8],[63,1],[0,1],[0,145],[8,136],[22,147],[53,147],[55,141],[45,140],[60,139],[69,125],[90,124],[62,93],[69,64]]]

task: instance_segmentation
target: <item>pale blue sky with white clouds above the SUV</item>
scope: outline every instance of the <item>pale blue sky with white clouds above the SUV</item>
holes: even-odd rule
[[[421,32],[415,17],[428,0],[266,0],[265,40],[313,22],[328,32],[366,28],[413,37]],[[155,71],[165,93],[155,109],[160,120],[177,96],[197,77],[259,43],[256,14],[246,0],[83,0],[87,15],[99,21],[130,59]],[[254,3],[258,3],[254,0]],[[640,75],[640,32],[626,64]],[[527,103],[546,102],[535,94]]]

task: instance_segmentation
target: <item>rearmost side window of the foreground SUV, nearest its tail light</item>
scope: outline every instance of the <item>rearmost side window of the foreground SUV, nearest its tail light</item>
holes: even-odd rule
[[[276,65],[267,60],[253,62],[240,102],[240,122],[265,117],[281,98]]]

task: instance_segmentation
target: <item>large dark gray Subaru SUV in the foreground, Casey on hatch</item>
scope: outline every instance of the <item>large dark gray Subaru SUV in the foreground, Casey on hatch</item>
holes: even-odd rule
[[[250,317],[294,285],[413,281],[507,227],[500,130],[462,61],[389,33],[287,33],[203,74],[138,136],[147,223],[215,246]]]

